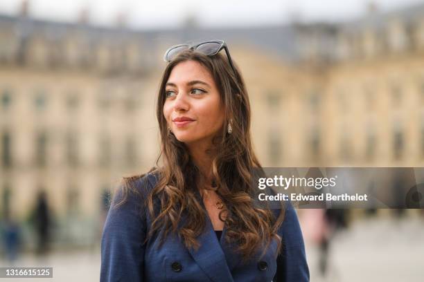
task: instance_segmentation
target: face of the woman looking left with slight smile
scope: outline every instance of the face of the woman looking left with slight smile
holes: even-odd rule
[[[186,61],[173,68],[166,83],[164,116],[180,142],[210,144],[224,123],[220,93],[209,71]]]

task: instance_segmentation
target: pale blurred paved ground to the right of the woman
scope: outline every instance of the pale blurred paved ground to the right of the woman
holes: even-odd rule
[[[326,277],[318,271],[319,252],[307,245],[311,281],[424,281],[424,219],[373,218],[355,223],[330,245]]]

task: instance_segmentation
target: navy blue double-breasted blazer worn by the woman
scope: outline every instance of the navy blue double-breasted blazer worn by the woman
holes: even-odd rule
[[[149,191],[156,182],[150,173],[137,180],[136,187]],[[114,203],[120,199],[118,193]],[[124,205],[114,208],[114,203],[103,229],[100,281],[309,281],[301,229],[292,205],[287,205],[278,231],[283,238],[281,255],[276,257],[278,242],[274,239],[262,257],[258,252],[249,263],[241,263],[241,257],[224,240],[225,226],[218,240],[209,216],[197,251],[186,248],[176,234],[169,234],[161,247],[159,238],[150,238],[143,245],[152,220],[148,211],[141,216],[140,198],[129,194]]]

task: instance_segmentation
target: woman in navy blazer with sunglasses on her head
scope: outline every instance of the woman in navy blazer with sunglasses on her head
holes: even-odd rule
[[[293,207],[254,204],[249,99],[224,41],[173,46],[165,59],[161,165],[116,193],[100,280],[308,281]]]

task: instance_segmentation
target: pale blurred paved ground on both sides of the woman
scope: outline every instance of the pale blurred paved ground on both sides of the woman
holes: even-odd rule
[[[306,245],[311,281],[424,281],[424,220],[409,218],[394,220],[373,218],[355,223],[339,234],[330,247],[328,276],[317,271],[318,250]],[[100,252],[53,252],[44,259],[26,254],[16,266],[52,266],[53,279],[34,281],[98,281]],[[0,265],[8,263],[0,258]],[[33,279],[2,279],[2,281],[32,281]]]

